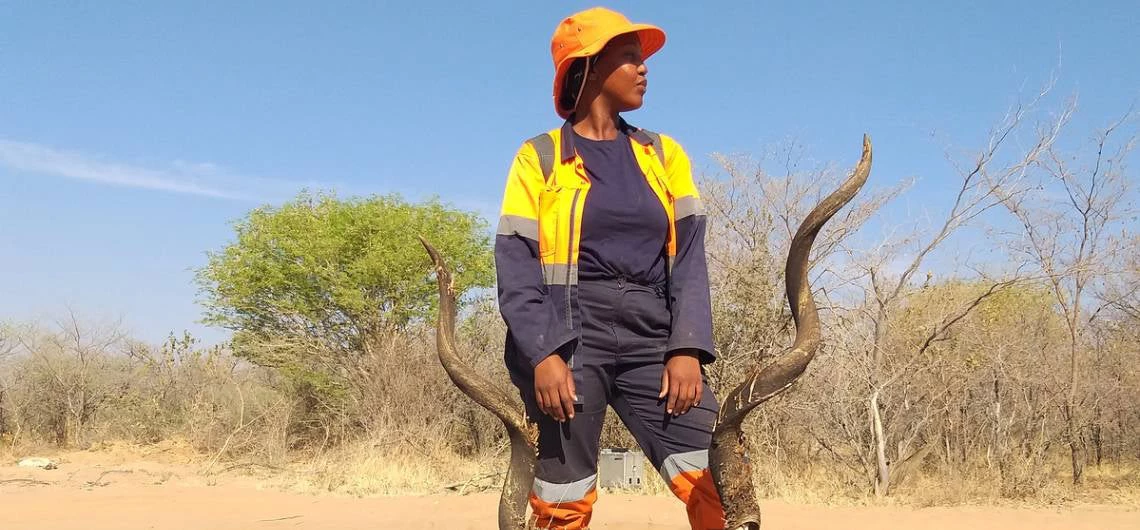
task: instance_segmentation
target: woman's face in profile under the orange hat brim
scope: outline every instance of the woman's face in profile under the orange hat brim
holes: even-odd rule
[[[596,75],[592,82],[601,82],[598,92],[613,103],[617,112],[641,108],[649,88],[649,68],[642,58],[641,41],[636,34],[619,35],[611,40],[597,56],[591,68]]]

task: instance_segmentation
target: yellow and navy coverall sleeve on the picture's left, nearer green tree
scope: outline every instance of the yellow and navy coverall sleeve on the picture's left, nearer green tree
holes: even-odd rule
[[[538,155],[523,144],[511,164],[495,236],[499,312],[507,341],[522,362],[535,365],[575,340],[549,301],[538,247],[538,199],[546,187]]]

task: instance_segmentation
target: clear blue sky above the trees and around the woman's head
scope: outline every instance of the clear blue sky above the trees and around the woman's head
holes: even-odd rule
[[[594,2],[0,0],[0,319],[74,308],[157,341],[196,324],[193,268],[301,187],[438,194],[494,215],[556,127],[549,36]],[[787,138],[939,211],[1010,104],[1054,72],[1091,133],[1140,97],[1140,5],[610,2],[665,28],[635,124],[714,152]],[[870,5],[869,5],[870,3]],[[1094,3],[1094,5],[1092,5]]]

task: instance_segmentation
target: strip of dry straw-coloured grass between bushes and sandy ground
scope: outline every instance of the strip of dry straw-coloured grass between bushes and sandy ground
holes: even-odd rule
[[[420,496],[467,495],[497,491],[503,480],[507,451],[488,451],[464,457],[446,443],[415,446],[393,442],[391,435],[358,441],[326,451],[293,455],[282,465],[244,460],[221,460],[197,450],[184,439],[157,443],[103,442],[87,450],[62,450],[50,446],[0,446],[0,463],[47,456],[71,465],[104,467],[146,465],[181,466],[207,481],[243,476],[259,487],[314,495]],[[755,460],[757,495],[762,499],[819,506],[1080,506],[1112,505],[1140,508],[1140,463],[1089,466],[1085,484],[1074,488],[1064,467],[1051,468],[1034,495],[1009,498],[1001,484],[984,470],[970,474],[917,473],[890,497],[877,499],[866,490],[845,483],[825,465],[792,468],[772,460]],[[635,494],[671,497],[665,481],[651,466],[640,489],[603,489],[601,495]]]

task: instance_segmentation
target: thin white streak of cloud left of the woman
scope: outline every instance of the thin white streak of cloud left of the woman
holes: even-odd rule
[[[176,161],[168,168],[141,168],[107,161],[100,156],[3,139],[0,139],[0,166],[15,171],[66,177],[113,186],[233,201],[259,201],[263,198],[263,195],[278,195],[282,188],[296,189],[300,187],[295,184],[270,179],[236,176],[210,163]],[[276,189],[260,189],[260,193],[251,194],[209,184],[222,180],[243,187]]]

